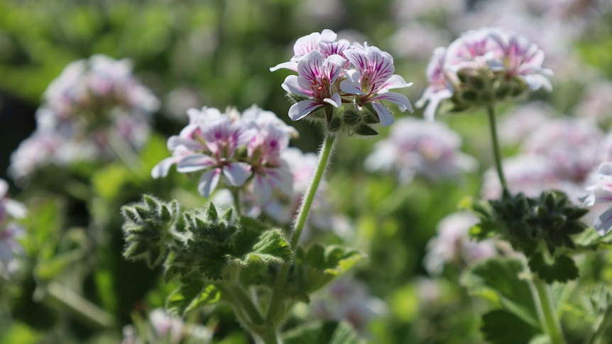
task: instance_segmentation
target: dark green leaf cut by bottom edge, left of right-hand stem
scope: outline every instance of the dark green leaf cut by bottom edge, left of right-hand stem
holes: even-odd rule
[[[484,339],[493,344],[529,343],[540,333],[537,328],[505,309],[484,314],[480,331]]]

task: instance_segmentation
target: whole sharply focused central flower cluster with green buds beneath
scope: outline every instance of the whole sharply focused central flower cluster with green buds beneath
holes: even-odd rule
[[[299,38],[293,52],[289,62],[271,68],[297,72],[297,76],[288,76],[282,84],[295,101],[289,109],[293,121],[310,115],[310,119],[327,122],[332,132],[344,125],[354,133],[371,135],[367,124],[393,123],[383,101],[396,104],[400,111],[412,111],[406,96],[390,91],[411,84],[393,74],[393,57],[388,52],[367,43],[351,45],[348,40],[338,40],[337,34],[327,29]],[[336,116],[343,105],[344,113]]]

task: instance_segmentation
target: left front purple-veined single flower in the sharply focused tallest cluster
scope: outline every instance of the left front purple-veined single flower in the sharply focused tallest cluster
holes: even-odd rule
[[[340,107],[340,94],[332,89],[332,85],[340,76],[342,65],[344,57],[330,55],[326,58],[318,50],[308,52],[297,62],[298,76],[289,75],[281,85],[290,94],[306,98],[290,107],[289,117],[293,121],[325,104]]]

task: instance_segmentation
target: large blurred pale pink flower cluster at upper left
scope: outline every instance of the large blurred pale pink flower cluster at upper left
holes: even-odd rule
[[[117,149],[139,148],[158,106],[134,79],[129,61],[94,55],[72,62],[49,84],[36,131],[13,152],[9,171],[22,179],[39,165],[105,159]]]

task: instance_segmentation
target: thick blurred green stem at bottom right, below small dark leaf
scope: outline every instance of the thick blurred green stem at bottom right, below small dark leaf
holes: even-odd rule
[[[565,344],[557,312],[554,310],[554,304],[552,304],[550,287],[537,276],[534,276],[531,282],[531,292],[537,308],[537,315],[540,318],[542,328],[550,337],[550,343]]]

